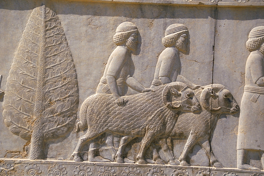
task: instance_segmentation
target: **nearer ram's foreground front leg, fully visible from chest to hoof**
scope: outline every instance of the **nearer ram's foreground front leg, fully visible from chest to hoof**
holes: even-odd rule
[[[144,159],[144,154],[148,148],[148,146],[150,145],[150,143],[153,141],[155,137],[155,133],[152,131],[147,131],[144,138],[143,138],[143,142],[142,145],[140,147],[139,153],[136,156],[136,159],[138,160],[138,164],[147,164],[147,162]]]

